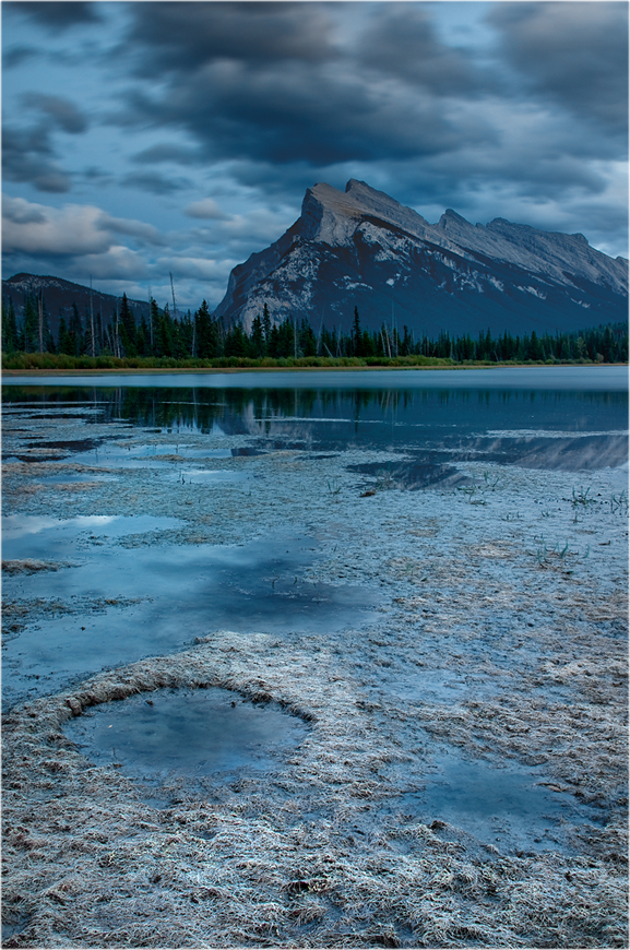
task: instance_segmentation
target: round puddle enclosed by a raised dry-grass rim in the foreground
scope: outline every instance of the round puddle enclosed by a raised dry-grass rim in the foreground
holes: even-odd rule
[[[161,689],[104,703],[63,728],[92,761],[118,763],[130,777],[153,780],[271,771],[309,732],[275,703],[252,703],[218,687]]]

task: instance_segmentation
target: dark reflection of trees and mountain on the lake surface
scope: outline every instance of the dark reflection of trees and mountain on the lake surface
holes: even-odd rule
[[[551,370],[552,372],[552,370]],[[215,377],[216,379],[216,377]],[[471,377],[473,379],[473,377]],[[457,461],[585,471],[628,458],[628,393],[421,383],[404,388],[334,385],[3,387],[4,409],[56,411],[86,421],[124,420],[163,432],[225,432],[252,438],[252,451],[370,449],[409,454],[416,468]],[[461,381],[461,376],[460,376]],[[383,383],[385,381],[383,380]],[[401,472],[401,475],[403,473]],[[417,473],[416,487],[431,484]],[[441,475],[454,476],[454,472]]]

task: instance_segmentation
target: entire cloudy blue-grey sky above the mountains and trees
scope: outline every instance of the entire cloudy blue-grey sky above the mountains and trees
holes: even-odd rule
[[[359,178],[628,256],[626,2],[3,2],[3,268],[211,307]]]

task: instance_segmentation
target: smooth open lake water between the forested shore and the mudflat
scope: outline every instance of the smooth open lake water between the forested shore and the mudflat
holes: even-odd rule
[[[313,452],[395,449],[430,464],[478,458],[574,471],[627,459],[625,367],[159,373],[54,385],[49,377],[15,377],[2,395],[5,413],[74,407],[86,421],[250,436],[252,450],[274,442]],[[74,448],[88,455],[93,447]]]

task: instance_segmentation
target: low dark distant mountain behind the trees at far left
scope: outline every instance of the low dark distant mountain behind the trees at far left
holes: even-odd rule
[[[44,296],[44,306],[48,314],[50,329],[57,333],[59,318],[63,316],[66,321],[72,313],[72,305],[76,304],[79,313],[85,322],[85,314],[90,313],[90,295],[92,293],[92,307],[94,316],[100,312],[103,324],[107,325],[116,312],[116,304],[120,307],[120,297],[111,294],[102,294],[99,290],[90,290],[81,284],[73,284],[61,277],[38,277],[35,274],[15,274],[8,281],[2,281],[2,299],[11,298],[15,313],[20,318],[24,310],[24,302],[28,295]],[[129,300],[129,306],[136,322],[144,313],[148,316],[148,304],[142,300]]]

